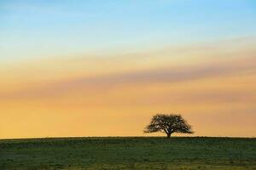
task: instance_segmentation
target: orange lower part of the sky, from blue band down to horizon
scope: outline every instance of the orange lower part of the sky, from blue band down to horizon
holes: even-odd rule
[[[2,62],[0,138],[148,135],[155,113],[196,136],[253,137],[255,40]]]

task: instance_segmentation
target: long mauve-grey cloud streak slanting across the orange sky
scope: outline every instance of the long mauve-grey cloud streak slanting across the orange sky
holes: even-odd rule
[[[21,89],[15,93],[0,94],[0,98],[37,98],[65,95],[73,91],[106,91],[131,85],[154,83],[191,82],[212,77],[229,77],[241,72],[253,72],[256,68],[256,57],[245,57],[225,62],[214,62],[201,65],[160,67],[143,71],[114,72],[95,77],[76,77],[68,80],[49,82],[47,85]]]

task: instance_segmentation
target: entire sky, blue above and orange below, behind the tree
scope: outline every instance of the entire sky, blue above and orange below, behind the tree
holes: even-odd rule
[[[0,139],[255,137],[255,47],[253,0],[2,0]]]

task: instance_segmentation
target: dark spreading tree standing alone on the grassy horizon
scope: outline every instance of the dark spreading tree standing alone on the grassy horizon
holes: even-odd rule
[[[192,127],[181,115],[157,114],[152,117],[150,124],[145,128],[144,133],[166,133],[170,138],[172,133],[194,133]]]

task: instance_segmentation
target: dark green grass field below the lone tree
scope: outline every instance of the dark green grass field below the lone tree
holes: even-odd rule
[[[256,139],[0,140],[0,169],[256,169]]]

